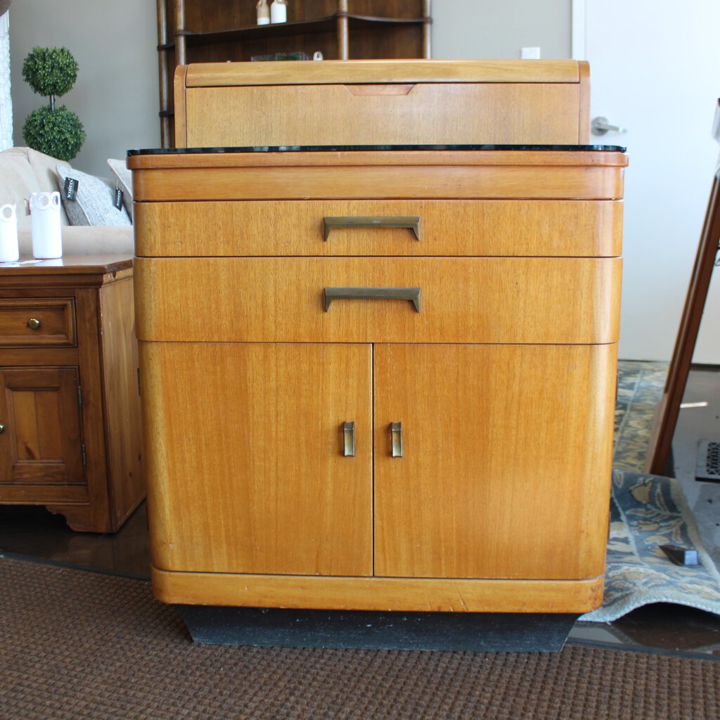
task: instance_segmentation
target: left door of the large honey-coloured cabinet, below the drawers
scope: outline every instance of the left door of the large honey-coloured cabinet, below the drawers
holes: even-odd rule
[[[372,574],[369,345],[140,343],[140,373],[156,567]]]

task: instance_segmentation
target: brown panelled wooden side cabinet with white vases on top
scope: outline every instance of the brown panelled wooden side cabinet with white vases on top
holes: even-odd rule
[[[0,503],[114,532],[144,497],[132,259],[0,263]]]

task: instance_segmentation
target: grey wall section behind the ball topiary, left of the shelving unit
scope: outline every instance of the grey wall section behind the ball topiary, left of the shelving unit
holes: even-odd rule
[[[80,66],[73,89],[57,101],[78,114],[87,135],[71,164],[108,177],[107,158],[158,147],[153,0],[14,0],[9,13],[15,145],[25,144],[27,114],[46,102],[22,79],[23,60],[37,45],[57,45],[68,48]]]

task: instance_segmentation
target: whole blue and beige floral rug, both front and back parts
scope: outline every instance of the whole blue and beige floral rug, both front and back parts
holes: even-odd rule
[[[720,615],[720,573],[701,542],[680,482],[639,472],[666,376],[667,363],[618,363],[605,598],[582,621],[610,622],[650,603]],[[675,565],[661,545],[696,549],[701,564]]]

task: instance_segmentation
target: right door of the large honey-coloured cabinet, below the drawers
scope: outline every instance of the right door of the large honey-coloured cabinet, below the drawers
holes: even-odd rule
[[[615,357],[614,345],[376,346],[375,574],[600,575]]]

